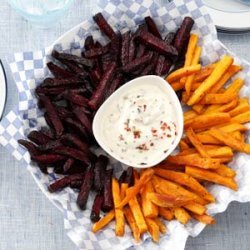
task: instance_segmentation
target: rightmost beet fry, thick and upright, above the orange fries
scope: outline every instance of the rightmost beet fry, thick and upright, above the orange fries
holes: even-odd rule
[[[194,24],[194,20],[191,17],[185,17],[184,20],[182,21],[180,28],[178,29],[175,35],[173,44],[179,53],[182,52],[182,50],[184,49],[189,39],[190,31],[193,27],[193,24]]]

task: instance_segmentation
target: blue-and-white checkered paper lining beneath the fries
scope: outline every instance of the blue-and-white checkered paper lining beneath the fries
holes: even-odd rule
[[[101,0],[95,13],[101,11],[116,30],[126,31],[140,24],[143,17],[150,15],[156,21],[161,33],[165,35],[169,31],[175,31],[184,16],[192,16],[195,19],[194,31],[201,37],[200,45],[203,48],[202,63],[214,62],[223,54],[231,54],[218,40],[215,27],[200,0],[176,0],[163,8],[159,8],[152,0]],[[98,234],[91,232],[89,220],[93,194],[91,194],[86,211],[82,212],[76,206],[77,194],[66,188],[57,194],[47,191],[48,184],[58,178],[51,171],[44,175],[30,161],[29,154],[20,146],[17,140],[25,138],[31,130],[39,129],[46,125],[41,111],[37,108],[34,95],[35,87],[42,79],[49,75],[46,62],[50,60],[51,51],[56,48],[73,54],[80,54],[84,39],[92,34],[95,39],[105,43],[105,39],[92,20],[86,21],[63,37],[56,45],[36,52],[16,53],[8,57],[9,65],[19,92],[19,106],[11,111],[0,124],[0,143],[6,147],[13,156],[26,166],[31,172],[37,184],[48,198],[64,214],[64,226],[68,236],[79,247],[79,249],[184,249],[188,235],[198,235],[204,225],[191,221],[185,227],[177,221],[167,223],[168,233],[161,238],[160,244],[156,246],[145,235],[142,243],[136,245],[128,228],[125,237],[117,238],[114,233],[114,224]],[[233,54],[232,54],[233,55]],[[235,62],[243,66],[244,70],[238,74],[245,79],[245,87],[242,96],[250,95],[250,65],[248,62],[237,58]],[[224,211],[228,204],[233,201],[250,201],[250,169],[247,162],[249,156],[238,154],[232,167],[237,171],[238,192],[233,192],[225,187],[213,185],[210,191],[216,197],[217,202],[208,207],[208,213],[215,214]],[[119,174],[122,170],[120,163],[111,161],[115,172]]]

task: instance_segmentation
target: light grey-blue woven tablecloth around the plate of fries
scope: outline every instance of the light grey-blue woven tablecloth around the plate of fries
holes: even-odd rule
[[[0,0],[0,58],[7,53],[36,50],[51,44],[89,18],[95,1],[76,0],[60,23],[48,30],[32,27]],[[237,22],[237,20],[236,20]],[[219,34],[239,56],[250,60],[250,34]],[[4,61],[8,81],[7,114],[17,104],[17,90]],[[1,90],[0,90],[1,91]],[[250,249],[250,204],[233,203],[216,216],[217,225],[189,238],[187,250]],[[63,216],[41,193],[31,175],[0,147],[0,250],[76,250],[66,236]]]

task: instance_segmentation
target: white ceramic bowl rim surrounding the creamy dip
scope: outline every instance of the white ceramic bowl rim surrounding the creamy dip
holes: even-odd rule
[[[139,165],[136,163],[128,163],[125,158],[121,159],[120,156],[116,155],[116,153],[113,151],[111,152],[110,148],[107,145],[107,141],[105,141],[105,136],[102,133],[102,124],[103,124],[103,119],[105,114],[107,113],[107,109],[110,109],[111,106],[116,102],[116,100],[119,99],[120,95],[126,92],[131,85],[145,85],[145,84],[154,84],[157,85],[163,93],[165,92],[166,95],[168,96],[169,100],[172,103],[174,112],[176,114],[176,126],[177,126],[177,136],[175,137],[173,143],[169,147],[167,151],[165,151],[161,157],[158,159],[154,160],[153,162],[150,163],[150,165],[145,164],[145,165]],[[94,120],[93,120],[93,133],[95,136],[96,141],[98,144],[103,148],[104,151],[106,151],[109,155],[111,155],[113,158],[116,160],[132,166],[136,168],[147,168],[147,167],[152,167],[161,161],[163,161],[167,156],[169,156],[173,150],[177,147],[183,133],[183,112],[182,108],[179,102],[179,99],[177,95],[175,94],[174,90],[172,87],[161,77],[155,76],[155,75],[148,75],[148,76],[142,76],[139,78],[136,78],[134,80],[129,81],[128,83],[124,84],[122,87],[120,87],[117,91],[115,91],[99,108],[97,111]]]

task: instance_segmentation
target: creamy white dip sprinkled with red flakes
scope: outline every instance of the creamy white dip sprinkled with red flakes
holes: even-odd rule
[[[104,111],[103,139],[128,164],[150,165],[162,158],[177,136],[177,114],[158,85],[131,85]]]

